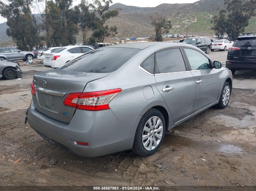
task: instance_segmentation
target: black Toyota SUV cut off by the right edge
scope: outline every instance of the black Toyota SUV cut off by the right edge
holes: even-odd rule
[[[236,70],[256,70],[256,34],[243,33],[228,49],[226,68],[232,74]]]

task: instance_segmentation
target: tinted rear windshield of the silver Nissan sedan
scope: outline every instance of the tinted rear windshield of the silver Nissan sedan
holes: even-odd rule
[[[141,49],[101,48],[95,49],[63,65],[60,69],[76,72],[114,72],[135,56]]]

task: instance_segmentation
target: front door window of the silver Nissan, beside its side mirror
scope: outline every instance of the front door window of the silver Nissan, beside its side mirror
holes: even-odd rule
[[[191,70],[211,69],[211,64],[209,59],[205,57],[202,53],[194,49],[185,48],[184,50],[188,57]]]

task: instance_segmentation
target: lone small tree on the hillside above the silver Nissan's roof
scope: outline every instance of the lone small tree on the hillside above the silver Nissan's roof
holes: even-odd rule
[[[155,41],[163,41],[162,34],[168,33],[171,29],[171,21],[162,18],[162,16],[163,14],[160,16],[156,13],[155,16],[151,17],[151,24],[155,28]]]

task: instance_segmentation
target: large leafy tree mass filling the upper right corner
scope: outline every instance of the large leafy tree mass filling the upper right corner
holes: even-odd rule
[[[229,37],[236,39],[248,26],[249,19],[255,15],[256,0],[224,0],[224,4],[227,5],[226,11],[221,10],[213,18],[212,30],[218,35],[226,32]]]

